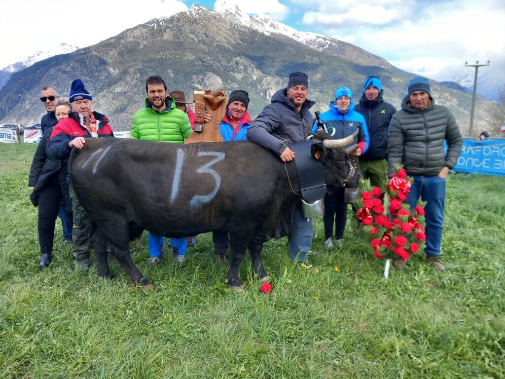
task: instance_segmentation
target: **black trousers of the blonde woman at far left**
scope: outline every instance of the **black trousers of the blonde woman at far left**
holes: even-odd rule
[[[40,190],[38,198],[38,241],[42,254],[51,254],[55,239],[55,221],[63,199],[63,191],[58,175]],[[72,214],[69,214],[72,219]]]

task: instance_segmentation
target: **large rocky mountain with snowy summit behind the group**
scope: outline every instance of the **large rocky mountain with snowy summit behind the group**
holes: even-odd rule
[[[93,109],[105,113],[116,130],[129,130],[145,97],[145,79],[159,74],[169,89],[245,89],[249,113],[258,115],[292,71],[309,75],[313,111],[326,110],[340,85],[355,91],[355,102],[368,75],[380,76],[385,100],[399,108],[414,76],[350,43],[292,29],[267,17],[248,17],[238,9],[220,13],[200,6],[153,19],[93,46],[54,56],[12,74],[0,89],[0,122],[28,124],[44,113],[36,100],[52,83],[68,93],[81,78],[93,95]],[[462,130],[469,124],[471,94],[432,81],[438,104],[448,106]],[[475,130],[493,103],[479,99]]]

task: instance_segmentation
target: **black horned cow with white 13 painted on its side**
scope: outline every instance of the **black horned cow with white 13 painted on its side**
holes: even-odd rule
[[[329,191],[351,170],[345,150],[324,144],[345,146],[352,138],[311,145],[311,154],[330,167]],[[134,283],[148,287],[129,251],[130,240],[144,229],[171,238],[228,230],[229,285],[241,291],[238,265],[247,247],[255,272],[268,279],[263,243],[287,234],[299,200],[295,164],[249,141],[176,145],[89,138],[83,149],[73,149],[70,167],[77,198],[107,237],[107,249]],[[95,240],[94,247],[98,276],[109,277],[105,246]]]

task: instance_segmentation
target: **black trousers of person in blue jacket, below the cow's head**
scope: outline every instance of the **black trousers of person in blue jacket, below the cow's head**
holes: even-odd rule
[[[344,187],[336,189],[331,195],[324,196],[324,239],[333,236],[335,223],[335,240],[343,240],[345,224],[347,223],[347,203],[344,201]]]

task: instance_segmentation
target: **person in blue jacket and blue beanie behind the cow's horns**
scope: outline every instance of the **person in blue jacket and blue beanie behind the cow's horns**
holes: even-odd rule
[[[352,153],[358,167],[358,156],[368,150],[369,136],[365,118],[354,110],[352,91],[349,87],[338,87],[335,90],[335,100],[330,103],[330,109],[321,114],[320,119],[325,123],[328,132],[334,139],[341,139],[352,135],[358,130],[358,136],[348,146],[357,144],[358,150]],[[318,124],[314,124],[312,133],[317,133]],[[348,147],[347,146],[347,147]],[[347,203],[344,199],[345,187],[339,187],[331,194],[324,196],[324,236],[326,249],[333,249],[336,244],[342,247],[345,224],[347,223]],[[333,239],[333,224],[335,224],[335,238]]]

